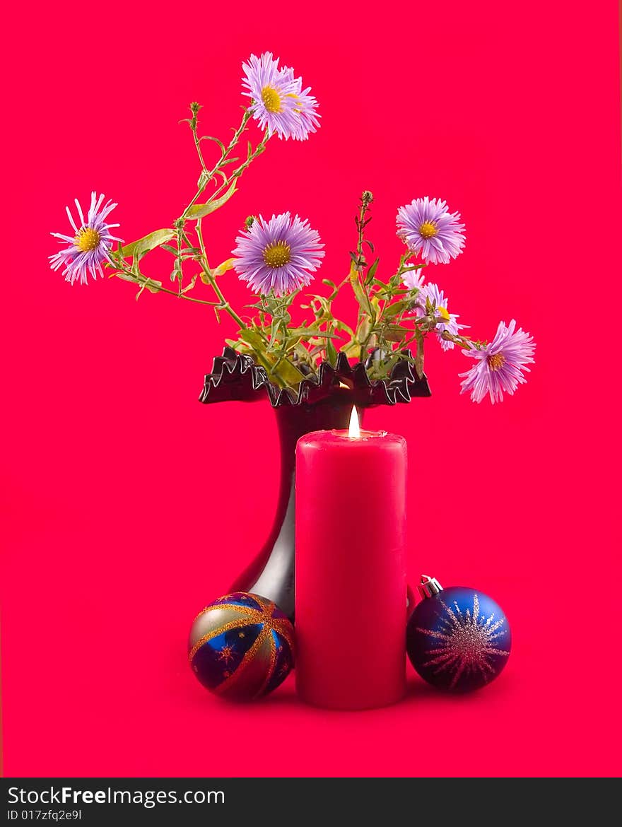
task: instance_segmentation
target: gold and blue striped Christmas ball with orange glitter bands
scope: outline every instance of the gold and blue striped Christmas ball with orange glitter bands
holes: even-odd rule
[[[215,695],[256,700],[285,681],[294,666],[294,627],[271,600],[233,592],[194,619],[189,662]]]

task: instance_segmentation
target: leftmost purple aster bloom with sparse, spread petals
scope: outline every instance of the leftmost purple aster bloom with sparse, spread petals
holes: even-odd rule
[[[61,232],[51,233],[55,238],[68,242],[69,246],[65,250],[55,253],[54,256],[50,256],[50,267],[52,270],[58,270],[64,266],[65,281],[69,281],[71,284],[74,284],[77,280],[80,284],[88,284],[89,273],[93,276],[93,279],[97,279],[98,273],[103,277],[103,262],[112,261],[110,257],[112,241],[122,241],[121,238],[111,236],[109,232],[111,227],[118,227],[119,225],[109,224],[106,221],[108,213],[117,204],[108,201],[102,207],[102,203],[103,195],[98,198],[97,193],[91,193],[91,206],[85,220],[78,198],[76,198],[75,205],[78,208],[79,224],[74,222],[69,207],[65,207],[69,222],[74,228],[74,236],[65,236]]]

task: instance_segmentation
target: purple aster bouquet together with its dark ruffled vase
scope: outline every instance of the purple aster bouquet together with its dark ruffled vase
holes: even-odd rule
[[[126,243],[110,222],[117,205],[93,193],[84,214],[67,208],[69,234],[53,233],[63,249],[50,256],[70,284],[87,284],[104,270],[136,284],[136,299],[145,290],[213,309],[218,322],[227,313],[236,324],[222,356],[205,377],[202,402],[253,401],[267,395],[275,409],[280,436],[280,494],[266,543],[233,591],[252,592],[294,614],[294,454],[305,433],[346,428],[356,405],[361,414],[371,405],[408,403],[429,396],[423,373],[428,337],[443,351],[459,347],[471,360],[462,376],[462,392],[492,403],[514,394],[533,362],[528,333],[500,322],[490,342],[468,336],[436,280],[425,277],[428,265],[447,264],[465,244],[459,213],[439,198],[414,198],[397,213],[397,234],[404,252],[390,270],[369,237],[373,195],[361,195],[356,211],[356,243],[341,279],[323,279],[311,288],[324,251],[309,221],[291,213],[264,218],[251,215],[237,234],[232,257],[213,265],[203,222],[236,194],[240,179],[273,138],[304,141],[319,126],[318,104],[294,70],[270,52],[251,55],[243,65],[243,93],[250,102],[231,140],[199,131],[199,103],[185,119],[200,171],[196,191],[179,218],[137,241]],[[251,132],[252,122],[261,130]],[[216,160],[207,160],[207,149]],[[146,270],[151,251],[170,254],[170,279]],[[249,303],[234,308],[227,299],[232,271],[248,284]],[[334,310],[342,290],[356,299],[356,318],[347,321]],[[299,306],[294,307],[294,303]],[[294,322],[294,317],[296,321]],[[302,318],[302,321],[300,319]]]

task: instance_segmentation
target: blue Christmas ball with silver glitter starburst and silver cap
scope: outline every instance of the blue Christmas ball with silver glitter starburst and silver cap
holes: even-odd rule
[[[468,692],[494,681],[508,662],[512,636],[499,605],[464,586],[443,589],[423,576],[423,600],[410,616],[406,648],[414,668],[432,686]]]

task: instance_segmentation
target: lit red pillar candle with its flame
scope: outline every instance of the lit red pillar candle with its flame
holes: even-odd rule
[[[405,683],[406,441],[314,431],[296,447],[296,689],[342,710],[394,703]]]

